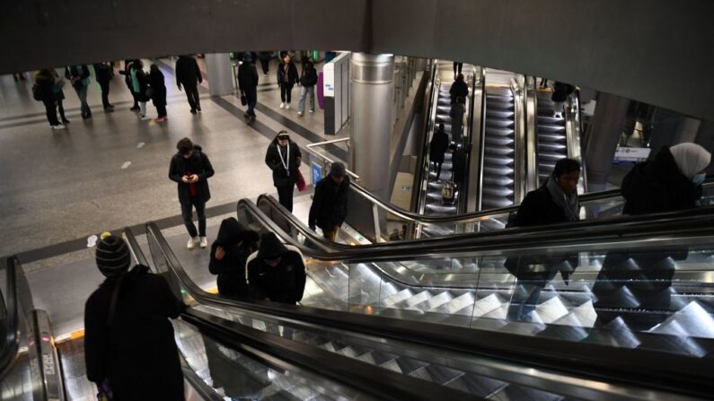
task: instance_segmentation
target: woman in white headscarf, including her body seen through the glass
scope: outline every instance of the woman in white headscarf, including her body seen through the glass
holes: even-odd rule
[[[654,159],[638,163],[622,179],[622,213],[657,214],[696,207],[710,161],[711,153],[698,144],[663,147]],[[686,247],[608,252],[593,285],[598,325],[621,318],[632,330],[648,330],[671,316],[676,261],[688,253]]]

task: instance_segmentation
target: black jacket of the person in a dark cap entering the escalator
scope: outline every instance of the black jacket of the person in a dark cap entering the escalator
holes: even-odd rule
[[[349,178],[338,185],[330,176],[321,179],[315,186],[313,205],[310,206],[310,227],[320,227],[323,231],[333,231],[342,225],[348,213]]]

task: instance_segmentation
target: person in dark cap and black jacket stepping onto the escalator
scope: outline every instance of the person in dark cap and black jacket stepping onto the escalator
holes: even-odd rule
[[[345,166],[340,162],[332,163],[330,174],[315,185],[313,205],[310,206],[308,225],[322,229],[322,236],[334,242],[339,227],[348,214],[349,178]]]

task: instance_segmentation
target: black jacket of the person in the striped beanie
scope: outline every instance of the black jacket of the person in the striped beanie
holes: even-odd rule
[[[87,379],[109,379],[118,400],[183,400],[183,373],[169,318],[183,305],[160,275],[148,267],[107,278],[84,305]],[[120,280],[111,327],[109,309]]]

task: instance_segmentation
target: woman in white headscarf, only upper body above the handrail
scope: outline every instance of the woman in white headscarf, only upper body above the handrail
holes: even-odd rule
[[[711,153],[698,144],[663,147],[651,161],[636,165],[622,180],[623,214],[691,209],[701,197]]]

